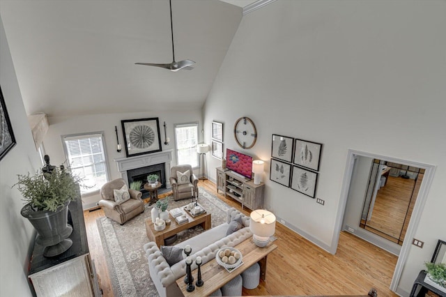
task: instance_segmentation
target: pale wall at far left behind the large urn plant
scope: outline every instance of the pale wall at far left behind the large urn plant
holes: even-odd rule
[[[17,144],[0,160],[0,296],[31,296],[27,281],[28,250],[35,232],[20,215],[22,195],[17,174],[36,172],[41,166],[26,119],[8,41],[0,19],[0,86]]]

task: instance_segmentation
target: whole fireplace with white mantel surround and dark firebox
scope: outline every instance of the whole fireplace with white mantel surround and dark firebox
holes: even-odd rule
[[[118,171],[121,173],[124,181],[128,185],[132,181],[142,181],[143,185],[147,182],[148,174],[157,174],[160,176],[162,188],[158,193],[167,192],[171,188],[170,185],[170,162],[172,160],[172,150],[160,151],[146,155],[137,155],[130,158],[114,159],[118,165]],[[148,192],[141,189],[143,198],[148,197]]]

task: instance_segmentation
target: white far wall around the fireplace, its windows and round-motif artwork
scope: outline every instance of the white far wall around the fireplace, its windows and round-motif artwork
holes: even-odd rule
[[[175,148],[174,124],[189,123],[199,121],[199,137],[201,139],[201,109],[188,111],[171,111],[171,112],[140,112],[140,113],[125,113],[125,114],[91,114],[86,116],[75,117],[49,117],[49,130],[43,139],[45,152],[49,155],[52,165],[60,165],[66,157],[63,153],[63,144],[61,135],[70,135],[84,132],[105,132],[105,149],[107,154],[107,165],[109,167],[110,180],[114,178],[121,178],[118,172],[116,162],[114,159],[125,157],[124,137],[121,127],[121,120],[128,119],[146,119],[157,117],[160,121],[160,135],[162,151]],[[170,138],[170,143],[164,145],[164,126],[167,125],[167,137]],[[114,127],[118,128],[119,143],[122,144],[123,150],[121,153],[116,151],[116,132]],[[174,152],[174,160],[171,165],[176,164],[176,153]],[[99,193],[95,195],[84,195],[82,202],[84,209],[91,208],[100,200]]]

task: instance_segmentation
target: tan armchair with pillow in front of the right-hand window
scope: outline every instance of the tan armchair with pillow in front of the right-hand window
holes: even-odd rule
[[[189,170],[189,178],[183,174]],[[179,172],[179,174],[178,174]],[[181,178],[182,177],[182,178]],[[198,178],[190,165],[176,165],[170,169],[170,183],[174,200],[187,199],[198,195]]]

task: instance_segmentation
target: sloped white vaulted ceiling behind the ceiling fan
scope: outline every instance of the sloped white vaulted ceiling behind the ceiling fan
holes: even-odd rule
[[[227,2],[227,3],[226,3]],[[0,15],[27,114],[75,116],[203,105],[252,0],[1,0]]]

